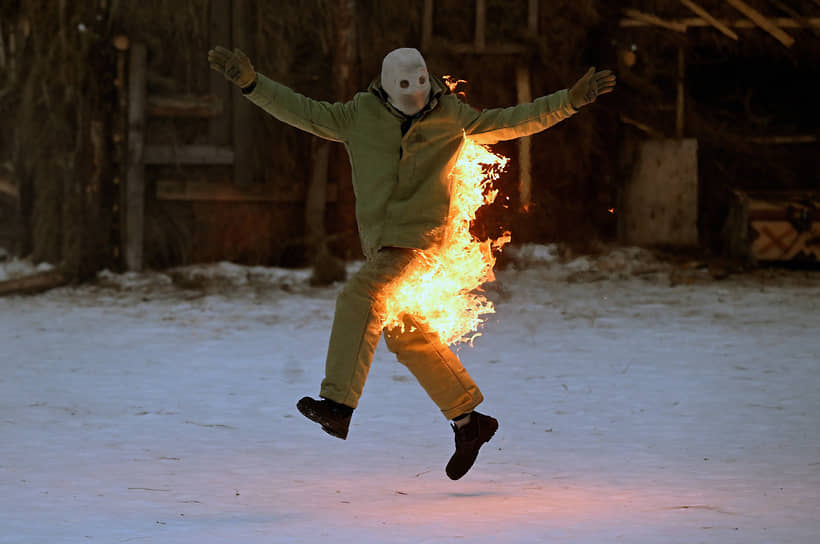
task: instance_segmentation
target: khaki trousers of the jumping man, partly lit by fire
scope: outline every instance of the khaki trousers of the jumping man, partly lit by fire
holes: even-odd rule
[[[320,396],[352,408],[359,404],[382,333],[382,291],[413,257],[412,249],[383,248],[348,280],[336,299]],[[447,419],[472,411],[483,400],[458,357],[414,320],[405,321],[404,331],[385,331],[385,341]]]

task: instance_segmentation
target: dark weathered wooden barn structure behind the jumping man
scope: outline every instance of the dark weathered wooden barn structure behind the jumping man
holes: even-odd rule
[[[570,122],[495,146],[513,158],[509,200],[477,235],[816,260],[820,2],[616,4],[4,2],[0,245],[80,280],[214,260],[314,262],[335,279],[360,256],[344,149],[254,110],[207,51],[239,47],[335,101],[414,46],[478,108],[565,88],[588,66],[618,75]]]

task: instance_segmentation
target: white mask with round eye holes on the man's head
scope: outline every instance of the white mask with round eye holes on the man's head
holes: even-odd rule
[[[394,49],[382,61],[382,88],[405,115],[415,115],[430,100],[430,74],[417,49]]]

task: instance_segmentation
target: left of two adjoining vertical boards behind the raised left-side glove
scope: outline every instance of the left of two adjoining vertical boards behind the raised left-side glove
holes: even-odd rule
[[[210,45],[231,46],[231,0],[210,0]],[[210,70],[209,94],[217,96],[224,105],[223,115],[211,118],[208,123],[208,142],[214,145],[230,145],[233,141],[232,92],[233,84],[220,73]]]

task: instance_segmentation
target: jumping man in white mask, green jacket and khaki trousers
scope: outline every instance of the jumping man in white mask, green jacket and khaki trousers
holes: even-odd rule
[[[381,75],[367,91],[348,102],[329,103],[257,73],[238,49],[217,46],[208,52],[208,60],[245,97],[280,121],[347,149],[366,261],[336,300],[319,400],[304,397],[296,405],[343,440],[382,334],[383,289],[401,275],[415,250],[440,242],[450,208],[448,176],[465,135],[492,144],[535,134],[615,87],[611,71],[590,68],[569,90],[477,111],[430,76],[419,51],[401,48],[384,57]],[[384,331],[387,347],[453,421],[456,451],[445,471],[457,480],[473,466],[498,421],[475,411],[483,400],[481,391],[438,336],[413,318],[406,318],[405,325],[403,330]]]

